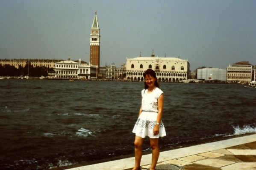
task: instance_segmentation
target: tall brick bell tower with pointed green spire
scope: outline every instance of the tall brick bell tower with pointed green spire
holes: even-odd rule
[[[94,20],[91,26],[90,34],[90,63],[98,66],[98,74],[100,72],[100,28],[95,11]]]

